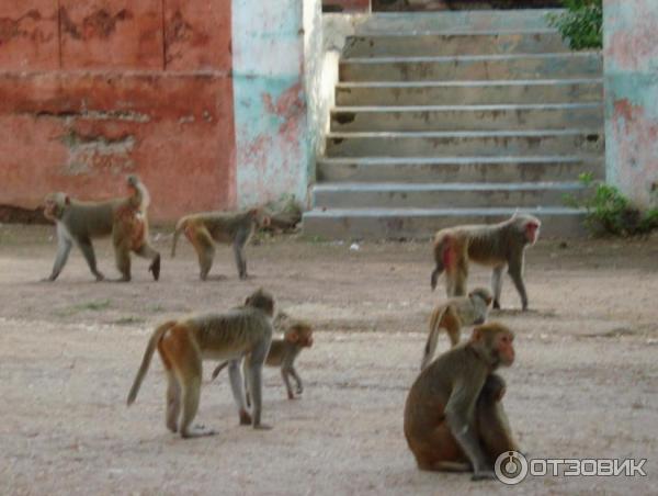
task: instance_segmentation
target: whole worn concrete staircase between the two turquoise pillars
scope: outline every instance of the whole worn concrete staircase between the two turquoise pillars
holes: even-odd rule
[[[603,177],[602,59],[544,11],[373,14],[339,67],[304,232],[423,238],[517,210],[577,236],[580,172]]]

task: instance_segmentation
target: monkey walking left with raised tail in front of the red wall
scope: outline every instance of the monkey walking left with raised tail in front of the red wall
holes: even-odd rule
[[[148,191],[137,176],[127,177],[128,196],[105,202],[80,202],[66,193],[46,196],[44,215],[57,225],[57,257],[53,272],[46,281],[55,281],[73,243],[80,248],[97,281],[104,275],[97,269],[91,240],[112,235],[120,281],[131,280],[131,251],[151,260],[149,271],[157,281],[160,277],[160,253],[148,240],[146,211],[150,202]]]

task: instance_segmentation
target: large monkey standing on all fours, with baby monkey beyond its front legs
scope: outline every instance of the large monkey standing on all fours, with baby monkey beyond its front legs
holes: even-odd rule
[[[131,405],[137,397],[141,381],[158,348],[168,380],[167,428],[172,432],[179,431],[183,438],[212,436],[215,433],[213,430],[191,427],[198,409],[202,360],[228,359],[230,386],[238,406],[240,424],[251,424],[254,429],[269,429],[269,426],[261,424],[261,372],[272,340],[270,319],[273,313],[274,300],[261,289],[247,297],[243,306],[227,313],[197,315],[162,324],[148,341],[127,404]],[[239,368],[240,360],[246,354],[250,354],[251,358],[249,367],[246,368],[247,382],[253,395],[251,415],[245,404]]]

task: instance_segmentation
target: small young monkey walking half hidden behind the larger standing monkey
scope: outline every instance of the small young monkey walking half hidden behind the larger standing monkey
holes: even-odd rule
[[[281,330],[281,324],[277,323],[282,319],[286,319],[287,315],[280,312],[274,320],[274,330]],[[279,324],[279,326],[277,326]],[[299,354],[303,348],[310,348],[313,346],[313,329],[309,324],[302,320],[292,320],[285,326],[283,339],[272,339],[272,346],[265,360],[265,365],[277,367],[281,369],[281,376],[287,391],[288,399],[295,399],[295,393],[300,395],[304,393],[304,384],[302,377],[295,370],[295,359]],[[213,371],[213,379],[215,379],[222,369],[224,369],[228,362],[218,364]],[[245,365],[248,367],[249,359],[245,360]],[[290,376],[295,380],[296,388],[293,393]],[[249,404],[249,387],[247,385],[247,404]]]

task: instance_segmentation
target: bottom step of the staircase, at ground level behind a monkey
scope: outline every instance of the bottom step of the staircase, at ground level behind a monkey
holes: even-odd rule
[[[429,239],[444,227],[492,224],[517,208],[314,208],[304,213],[305,236],[320,239]],[[569,207],[521,208],[542,221],[541,237],[583,236],[585,211]],[[429,249],[429,248],[428,248]],[[428,251],[429,252],[429,251]],[[429,271],[428,271],[429,273]]]

